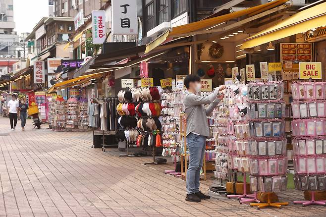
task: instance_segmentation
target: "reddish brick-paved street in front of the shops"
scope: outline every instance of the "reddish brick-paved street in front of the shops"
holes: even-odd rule
[[[91,148],[92,132],[8,130],[0,118],[0,217],[143,217],[143,216],[326,216],[326,207],[256,210],[209,192],[213,199],[185,202],[185,182],[163,174],[168,165],[148,165],[146,158],[118,158],[117,149]],[[147,158],[148,161],[149,157]],[[212,180],[202,182],[207,192]],[[282,201],[302,200],[289,190]]]

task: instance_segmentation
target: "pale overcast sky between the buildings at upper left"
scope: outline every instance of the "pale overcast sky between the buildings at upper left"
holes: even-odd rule
[[[13,0],[16,31],[31,32],[42,17],[49,15],[49,0]]]

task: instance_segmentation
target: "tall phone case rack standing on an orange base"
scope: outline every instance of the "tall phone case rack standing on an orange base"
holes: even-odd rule
[[[281,208],[287,202],[271,202],[272,192],[285,191],[287,186],[287,140],[285,138],[285,103],[283,101],[284,83],[253,82],[247,84],[249,99],[249,126],[245,127],[247,136],[237,141],[237,152],[248,159],[250,187],[255,193],[266,192],[266,203],[250,203],[258,209]],[[243,129],[235,127],[236,134]],[[247,167],[242,161],[243,169]],[[250,200],[243,199],[243,202]]]

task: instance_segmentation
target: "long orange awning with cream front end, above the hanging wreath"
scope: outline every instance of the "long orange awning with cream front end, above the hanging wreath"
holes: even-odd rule
[[[213,17],[210,19],[205,19],[205,20],[200,20],[197,22],[189,23],[186,25],[173,27],[169,31],[163,33],[157,39],[155,39],[154,41],[149,43],[146,46],[145,54],[149,53],[150,51],[152,51],[154,48],[158,47],[165,41],[167,42],[173,38],[185,36],[185,35],[188,35],[188,36],[196,35],[197,34],[197,33],[195,33],[196,31],[212,29],[212,28],[216,27],[217,25],[219,25],[227,20],[230,20],[230,19],[235,19],[235,18],[245,16],[245,15],[247,15],[249,17],[254,16],[263,11],[266,11],[266,10],[274,8],[278,5],[281,5],[281,4],[285,3],[286,1],[287,0],[273,0],[269,3],[261,4],[261,5],[255,6],[255,7],[250,7],[250,8],[240,10],[240,11],[237,11],[234,13],[229,13],[229,14]]]

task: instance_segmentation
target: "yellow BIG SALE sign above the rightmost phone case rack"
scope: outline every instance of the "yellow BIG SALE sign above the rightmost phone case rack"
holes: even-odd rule
[[[322,62],[300,62],[300,79],[322,79]]]

